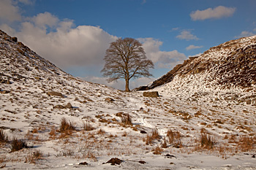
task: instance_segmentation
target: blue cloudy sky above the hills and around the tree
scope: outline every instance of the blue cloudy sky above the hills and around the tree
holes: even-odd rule
[[[154,62],[147,85],[187,58],[256,35],[255,0],[0,0],[0,29],[75,77],[124,90],[100,72],[118,38],[143,45]]]

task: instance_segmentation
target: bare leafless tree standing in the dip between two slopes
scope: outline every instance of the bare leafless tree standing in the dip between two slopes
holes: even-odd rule
[[[151,77],[148,69],[154,69],[154,63],[146,58],[146,53],[136,39],[125,38],[111,42],[106,50],[105,66],[101,72],[109,77],[108,82],[125,80],[125,90],[129,91],[129,80],[138,77]]]

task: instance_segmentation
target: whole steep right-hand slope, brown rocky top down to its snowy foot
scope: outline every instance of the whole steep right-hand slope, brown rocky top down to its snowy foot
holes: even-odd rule
[[[139,90],[159,89],[161,85],[163,91],[180,94],[188,100],[195,100],[199,95],[208,96],[207,100],[222,98],[255,104],[256,36],[211,47]]]

